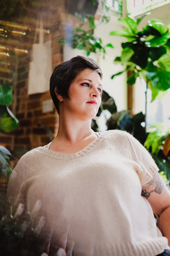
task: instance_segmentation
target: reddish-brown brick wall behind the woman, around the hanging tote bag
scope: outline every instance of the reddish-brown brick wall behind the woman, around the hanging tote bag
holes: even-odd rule
[[[45,145],[51,141],[47,132],[48,129],[53,136],[56,135],[58,130],[58,114],[54,106],[51,107],[49,92],[27,94],[31,48],[39,14],[43,15],[44,28],[50,30],[50,35],[45,33],[45,41],[51,39],[52,68],[54,69],[57,64],[63,61],[63,46],[58,44],[58,40],[64,37],[66,15],[64,13],[64,1],[43,0],[40,1],[39,5],[30,7],[27,16],[22,19],[22,23],[18,21],[20,25],[29,27],[29,33],[25,37],[20,37],[19,42],[17,40],[2,40],[2,44],[9,48],[28,50],[28,53],[16,54],[8,59],[13,63],[12,75],[0,72],[0,84],[6,82],[13,87],[14,99],[9,108],[19,120],[19,127],[15,131],[0,134],[0,144],[6,146],[16,157],[13,160],[13,165],[26,150]],[[50,106],[49,111],[44,109],[46,103]],[[24,150],[20,151],[21,148]]]

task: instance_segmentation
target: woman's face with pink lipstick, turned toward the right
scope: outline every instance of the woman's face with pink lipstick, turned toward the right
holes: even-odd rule
[[[63,98],[63,110],[79,119],[92,119],[101,104],[101,93],[100,75],[92,69],[84,69],[70,84],[69,99]]]

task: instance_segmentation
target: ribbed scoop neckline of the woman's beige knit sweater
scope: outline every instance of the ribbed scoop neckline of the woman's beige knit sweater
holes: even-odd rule
[[[68,159],[68,158],[70,158],[70,159],[73,159],[73,158],[77,158],[79,156],[82,156],[85,153],[92,150],[95,146],[97,146],[107,136],[107,134],[109,132],[111,132],[111,130],[110,131],[105,131],[105,132],[100,132],[100,134],[98,134],[98,137],[92,143],[90,143],[88,146],[86,146],[81,151],[78,151],[78,152],[72,153],[72,154],[65,154],[65,153],[60,153],[60,152],[57,152],[57,151],[52,151],[50,149],[45,148],[44,146],[40,146],[36,150],[38,150],[41,153],[43,153],[45,155],[48,155],[49,157],[52,157],[52,158],[58,158],[58,159]]]

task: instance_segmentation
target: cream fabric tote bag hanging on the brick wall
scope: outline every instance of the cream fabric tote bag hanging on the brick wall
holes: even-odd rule
[[[39,43],[36,43],[39,28]],[[29,63],[28,94],[49,91],[49,79],[52,73],[51,40],[44,43],[42,16],[38,18],[37,29],[32,46],[32,61]]]

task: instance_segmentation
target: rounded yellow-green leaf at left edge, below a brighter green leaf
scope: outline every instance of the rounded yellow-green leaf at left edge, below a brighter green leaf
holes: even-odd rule
[[[0,119],[0,130],[9,133],[18,127],[18,123],[12,117],[5,117]]]

